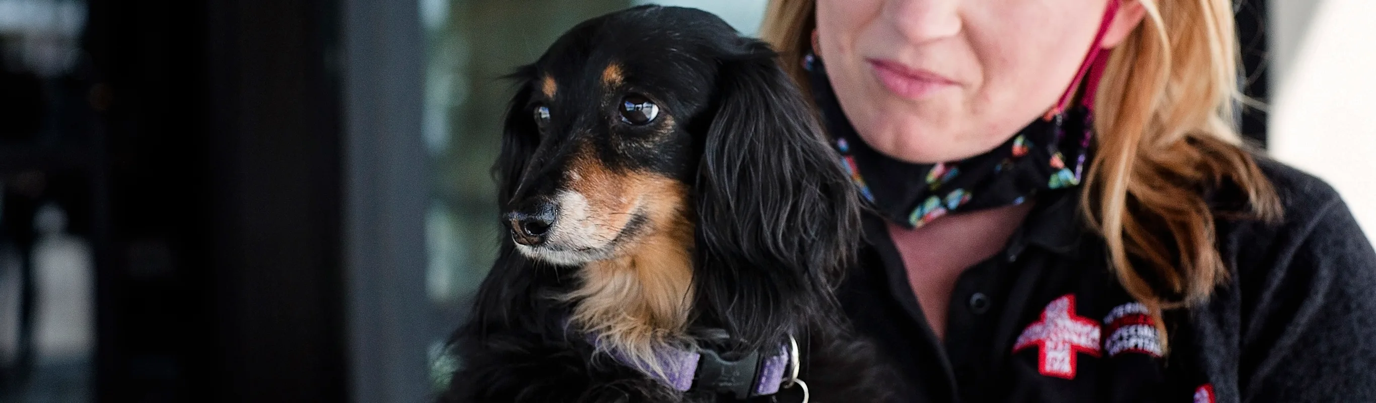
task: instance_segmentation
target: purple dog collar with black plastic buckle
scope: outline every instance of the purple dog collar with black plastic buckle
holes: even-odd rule
[[[656,375],[643,363],[627,359],[615,348],[605,348],[592,338],[590,341],[599,349],[608,351],[616,362],[640,370],[680,392],[696,386],[698,389],[733,392],[738,399],[746,399],[777,393],[786,375],[788,381],[798,378],[798,342],[793,337],[788,337],[788,344],[779,347],[777,353],[761,358],[761,352],[753,352],[736,360],[722,359],[711,349],[660,348],[655,351],[655,355],[659,356],[660,362],[667,363],[663,375]],[[786,374],[786,371],[788,373]]]

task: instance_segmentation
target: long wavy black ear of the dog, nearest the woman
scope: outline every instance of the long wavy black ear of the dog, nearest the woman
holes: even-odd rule
[[[695,187],[696,308],[735,337],[773,342],[828,303],[859,239],[860,204],[768,45],[742,39],[717,88]]]

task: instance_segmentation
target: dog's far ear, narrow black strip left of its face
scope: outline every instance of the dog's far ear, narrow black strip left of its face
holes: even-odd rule
[[[502,149],[493,164],[493,177],[497,180],[498,205],[505,205],[520,186],[522,175],[539,147],[539,128],[530,110],[535,91],[535,66],[517,67],[506,78],[516,81],[516,95],[512,96],[502,125]]]

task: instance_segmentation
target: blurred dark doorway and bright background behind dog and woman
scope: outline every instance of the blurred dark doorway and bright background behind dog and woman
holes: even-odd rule
[[[414,1],[0,0],[0,403],[440,386],[502,234],[497,77],[643,1]],[[1243,132],[1373,234],[1376,3],[1236,14]]]

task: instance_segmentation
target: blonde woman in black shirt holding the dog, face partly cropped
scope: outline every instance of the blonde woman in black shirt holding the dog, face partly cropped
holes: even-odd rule
[[[1376,402],[1376,253],[1230,128],[1227,0],[773,0],[896,402]]]

